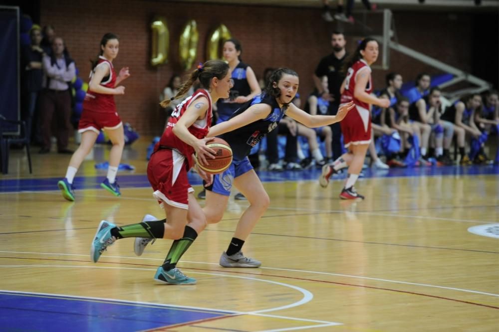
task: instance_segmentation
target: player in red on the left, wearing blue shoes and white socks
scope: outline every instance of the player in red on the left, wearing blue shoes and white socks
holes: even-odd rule
[[[113,60],[118,55],[119,41],[113,33],[106,33],[100,41],[100,54],[92,61],[88,91],[83,100],[83,112],[78,123],[81,133],[81,143],[73,153],[66,176],[57,183],[62,196],[68,201],[74,201],[73,179],[85,156],[95,144],[101,129],[104,129],[113,146],[109,154],[109,169],[101,187],[115,196],[121,195],[116,182],[116,173],[125,146],[123,123],[116,112],[115,94],[124,94],[125,87],[119,84],[130,76],[128,67],[121,68],[116,76]]]

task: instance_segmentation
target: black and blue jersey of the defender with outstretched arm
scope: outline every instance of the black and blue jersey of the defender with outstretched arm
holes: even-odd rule
[[[257,95],[252,100],[243,104],[236,112],[231,115],[231,118],[245,112],[251,105],[254,104],[270,105],[271,111],[264,118],[247,124],[244,127],[238,128],[231,132],[220,135],[220,138],[225,139],[232,148],[233,158],[242,160],[250,154],[251,148],[274,128],[285,115],[288,105],[279,107],[279,104],[274,97],[268,95]]]

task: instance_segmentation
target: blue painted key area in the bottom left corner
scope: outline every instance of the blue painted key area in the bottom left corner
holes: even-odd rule
[[[0,330],[36,332],[143,331],[231,313],[166,305],[0,292]]]

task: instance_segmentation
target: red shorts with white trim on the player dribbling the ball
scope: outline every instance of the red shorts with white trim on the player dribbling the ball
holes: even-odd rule
[[[187,179],[187,168],[185,156],[177,150],[160,149],[151,155],[147,178],[160,204],[187,210],[189,193],[194,192]]]

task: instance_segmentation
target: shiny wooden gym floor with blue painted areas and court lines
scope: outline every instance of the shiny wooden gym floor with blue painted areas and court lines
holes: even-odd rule
[[[96,147],[65,201],[68,155],[38,155],[29,175],[12,150],[0,176],[0,331],[499,331],[499,167],[365,170],[362,202],[322,189],[318,170],[260,172],[271,205],[245,244],[258,269],[218,265],[246,201],[230,200],[179,267],[197,285],[157,285],[171,241],[141,257],[133,240],[90,262],[95,229],[164,218],[145,176],[141,138],[125,148],[121,197],[99,188]],[[201,186],[192,174],[196,191]],[[201,201],[201,204],[204,204]],[[471,228],[471,229],[470,229]],[[484,236],[485,235],[485,236]]]

